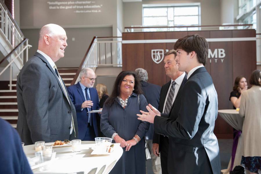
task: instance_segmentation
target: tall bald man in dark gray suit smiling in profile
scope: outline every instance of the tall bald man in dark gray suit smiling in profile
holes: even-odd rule
[[[17,77],[17,131],[25,145],[78,138],[75,107],[55,65],[66,40],[60,26],[43,26],[37,52]]]

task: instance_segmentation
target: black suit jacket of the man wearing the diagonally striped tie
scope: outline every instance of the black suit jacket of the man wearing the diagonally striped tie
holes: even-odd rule
[[[186,81],[187,81],[187,75],[185,74],[185,76],[184,76],[184,78],[182,80],[182,83],[180,85],[178,93],[180,93],[180,91],[183,88],[183,86],[186,83]],[[167,93],[168,93],[168,88],[169,88],[170,84],[171,84],[171,80],[168,83],[164,84],[162,86],[162,88],[161,88],[161,91],[160,91],[160,104],[159,104],[159,108],[158,108],[160,113],[163,113],[164,102],[165,102],[165,99],[166,99],[166,96],[167,96]],[[176,96],[176,98],[177,98],[177,96]],[[166,115],[166,114],[162,114],[162,116],[168,117],[168,115]],[[162,137],[163,137],[162,135],[159,135],[158,133],[154,132],[153,143],[159,144],[159,151],[161,150],[161,143],[162,143],[162,140],[163,140]]]

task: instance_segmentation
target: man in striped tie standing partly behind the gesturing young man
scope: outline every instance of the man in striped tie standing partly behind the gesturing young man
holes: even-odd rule
[[[183,88],[184,84],[187,81],[187,75],[184,72],[178,70],[177,62],[175,61],[175,57],[177,56],[176,50],[170,50],[164,54],[164,68],[166,71],[166,75],[171,78],[171,80],[164,84],[160,91],[160,105],[158,110],[161,113],[168,114],[170,111],[170,107],[175,101],[177,93]],[[175,82],[173,86],[172,83]],[[171,87],[173,86],[173,93],[171,93]],[[171,95],[173,94],[173,95]],[[171,98],[172,97],[172,98]],[[169,104],[167,104],[169,98]],[[151,104],[151,103],[150,103]],[[153,104],[151,104],[154,106]],[[168,106],[168,107],[166,107]],[[157,108],[156,106],[154,106]],[[178,110],[177,110],[178,112]],[[153,136],[153,153],[157,156],[160,154],[161,168],[162,173],[168,173],[168,144],[169,137],[162,136],[157,133]]]

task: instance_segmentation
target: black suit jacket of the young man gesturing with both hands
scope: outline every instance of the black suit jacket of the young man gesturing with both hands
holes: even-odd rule
[[[168,173],[220,173],[218,140],[213,133],[217,115],[212,78],[204,67],[198,68],[177,94],[169,118],[154,119],[155,132],[169,136]]]

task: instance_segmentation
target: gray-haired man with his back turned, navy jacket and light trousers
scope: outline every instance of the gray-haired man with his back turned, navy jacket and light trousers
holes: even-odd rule
[[[147,103],[155,106],[156,108],[159,107],[160,102],[160,89],[159,85],[148,83],[148,72],[142,68],[137,68],[135,70],[137,77],[139,77],[140,83],[142,85],[143,95],[147,99]],[[153,94],[153,95],[152,95]],[[154,128],[153,124],[150,124],[150,128],[146,133],[146,143],[148,148],[152,149],[152,139],[154,135]],[[161,165],[160,165],[160,158],[151,151],[151,162],[152,162],[152,170],[154,174],[161,173]]]

